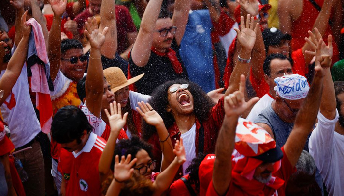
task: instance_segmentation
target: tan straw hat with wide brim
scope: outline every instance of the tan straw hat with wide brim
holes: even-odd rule
[[[123,87],[129,86],[130,84],[137,82],[144,75],[144,73],[143,73],[143,74],[138,75],[136,77],[127,79],[125,77],[123,71],[118,67],[106,68],[103,71],[103,73],[104,73],[104,76],[106,78],[106,81],[111,86],[111,91],[114,93]]]

